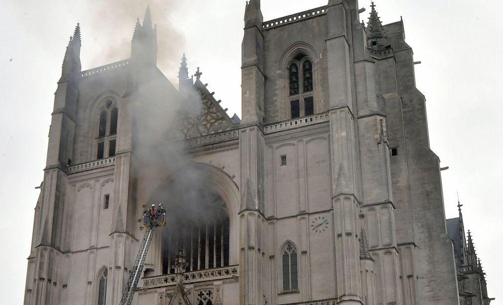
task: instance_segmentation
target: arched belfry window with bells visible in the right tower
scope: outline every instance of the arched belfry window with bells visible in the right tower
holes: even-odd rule
[[[288,66],[290,117],[314,114],[313,65],[311,59],[299,53]]]

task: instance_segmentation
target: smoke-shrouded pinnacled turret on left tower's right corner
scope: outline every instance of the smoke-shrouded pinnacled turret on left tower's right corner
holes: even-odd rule
[[[157,65],[157,26],[152,28],[152,14],[147,6],[143,25],[136,20],[133,39],[131,41],[131,60],[148,66]]]

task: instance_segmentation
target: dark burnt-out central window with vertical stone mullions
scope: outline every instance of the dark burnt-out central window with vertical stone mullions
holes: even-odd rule
[[[173,264],[180,250],[187,257],[186,272],[229,266],[229,216],[224,206],[218,209],[216,219],[187,224],[163,237],[163,274],[175,273]]]

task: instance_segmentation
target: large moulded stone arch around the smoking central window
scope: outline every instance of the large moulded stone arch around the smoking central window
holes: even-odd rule
[[[157,188],[154,189],[153,192],[156,192],[157,189],[161,188],[163,185],[169,185],[171,181],[173,181],[174,177],[177,175],[182,175],[184,170],[187,168],[192,168],[196,171],[199,171],[201,176],[204,179],[201,179],[201,183],[204,188],[208,188],[210,190],[215,191],[220,195],[222,200],[225,202],[225,206],[227,208],[229,214],[229,226],[230,226],[230,236],[229,236],[229,265],[237,265],[239,262],[239,221],[238,221],[238,212],[240,206],[240,195],[239,188],[232,180],[232,178],[225,173],[223,170],[209,164],[205,163],[191,163],[182,168],[179,168],[175,172],[171,173],[169,176],[161,182]],[[158,202],[153,202],[152,193],[150,195],[150,199],[148,201],[148,205],[156,204]],[[166,207],[167,208],[167,207]],[[169,211],[168,211],[169,212]]]

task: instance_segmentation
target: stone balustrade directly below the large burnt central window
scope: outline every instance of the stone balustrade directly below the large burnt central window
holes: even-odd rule
[[[206,269],[184,273],[184,284],[204,281],[216,281],[239,276],[239,266],[228,266],[215,269]],[[177,276],[175,274],[153,276],[143,279],[144,288],[155,288],[175,285]]]

